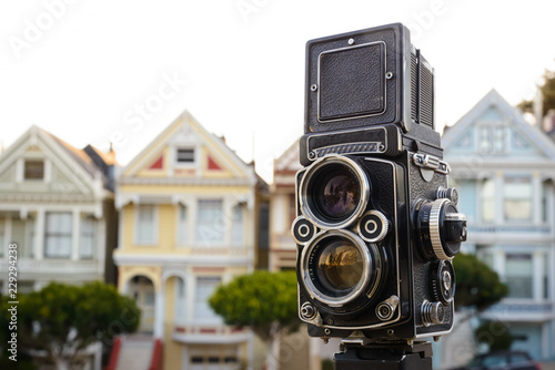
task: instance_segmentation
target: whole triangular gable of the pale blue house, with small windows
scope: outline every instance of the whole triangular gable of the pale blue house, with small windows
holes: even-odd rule
[[[554,143],[495,90],[448,127],[442,142],[446,157],[555,161]]]

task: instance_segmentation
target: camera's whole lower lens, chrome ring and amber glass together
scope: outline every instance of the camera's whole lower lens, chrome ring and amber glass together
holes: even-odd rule
[[[366,244],[347,230],[320,232],[303,249],[300,264],[311,298],[330,307],[342,307],[364,295],[375,276],[374,265]],[[350,287],[341,289],[342,284]]]

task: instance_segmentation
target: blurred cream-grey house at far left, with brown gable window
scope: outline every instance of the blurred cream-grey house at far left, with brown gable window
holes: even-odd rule
[[[31,126],[0,154],[0,290],[8,245],[17,247],[18,294],[49,281],[114,282],[113,152],[78,150]]]

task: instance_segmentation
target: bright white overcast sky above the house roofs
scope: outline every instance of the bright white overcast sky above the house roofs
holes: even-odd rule
[[[518,3],[515,6],[515,3]],[[435,68],[436,122],[553,69],[552,1],[43,0],[0,3],[0,142],[31,124],[125,165],[181,112],[271,179],[303,133],[310,39],[403,22]]]

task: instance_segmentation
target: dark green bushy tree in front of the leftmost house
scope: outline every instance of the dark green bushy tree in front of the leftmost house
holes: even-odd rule
[[[19,295],[17,305],[18,351],[41,353],[57,369],[69,369],[81,361],[92,343],[111,343],[139,326],[140,311],[135,302],[118,294],[113,286],[100,281],[83,286],[51,282],[40,291]],[[10,299],[0,301],[0,327],[8,328]],[[6,343],[11,332],[0,331]]]

